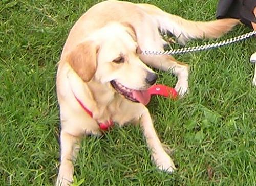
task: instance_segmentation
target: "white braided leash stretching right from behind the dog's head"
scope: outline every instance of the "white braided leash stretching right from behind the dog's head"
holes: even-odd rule
[[[256,30],[237,36],[237,37],[233,37],[231,39],[227,39],[224,41],[220,41],[217,43],[211,43],[211,44],[204,44],[204,45],[200,45],[197,47],[188,47],[188,48],[180,48],[180,49],[175,49],[175,50],[169,50],[169,51],[142,51],[143,55],[173,55],[173,54],[183,54],[183,53],[188,53],[188,52],[195,52],[195,51],[203,51],[203,50],[208,50],[208,49],[214,49],[217,47],[222,47],[225,46],[227,44],[231,44],[231,43],[235,43],[238,41],[242,41],[245,39],[248,39],[249,37],[256,35]]]

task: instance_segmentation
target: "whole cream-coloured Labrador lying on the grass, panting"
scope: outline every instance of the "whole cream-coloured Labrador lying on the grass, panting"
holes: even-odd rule
[[[61,159],[56,185],[70,185],[79,144],[84,135],[102,135],[101,126],[140,123],[156,167],[173,172],[175,164],[154,129],[143,91],[157,80],[147,65],[178,77],[175,89],[188,90],[188,65],[163,51],[161,33],[180,43],[193,38],[217,38],[238,24],[237,19],[189,21],[150,4],[103,1],[84,13],[63,47],[56,78],[60,107]]]

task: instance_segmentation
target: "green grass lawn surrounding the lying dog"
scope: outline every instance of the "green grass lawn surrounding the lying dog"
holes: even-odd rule
[[[68,32],[97,1],[0,1],[0,185],[53,185],[59,165],[56,63]],[[135,1],[134,1],[135,2]],[[137,1],[138,2],[138,1]],[[192,20],[215,18],[216,0],[144,1]],[[249,29],[238,26],[222,37]],[[202,41],[191,41],[197,45]],[[178,45],[176,47],[179,47]],[[255,185],[255,39],[176,56],[190,65],[190,92],[148,106],[178,170],[156,170],[139,127],[84,139],[82,185]],[[158,83],[176,78],[159,72]],[[76,185],[79,185],[77,183]]]

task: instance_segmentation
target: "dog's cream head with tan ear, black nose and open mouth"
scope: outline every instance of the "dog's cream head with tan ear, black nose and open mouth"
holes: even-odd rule
[[[133,27],[112,24],[78,44],[66,60],[84,82],[101,82],[110,91],[141,102],[138,93],[153,85],[157,76],[140,60],[140,53]]]

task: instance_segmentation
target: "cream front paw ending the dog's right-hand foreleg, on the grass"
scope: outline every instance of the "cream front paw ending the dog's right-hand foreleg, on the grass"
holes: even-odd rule
[[[172,173],[176,169],[172,158],[166,153],[152,155],[152,160],[161,171]]]

